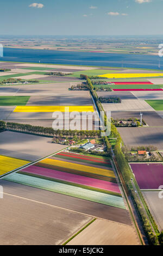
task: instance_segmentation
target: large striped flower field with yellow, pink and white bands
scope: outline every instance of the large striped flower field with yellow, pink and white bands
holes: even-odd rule
[[[48,157],[20,172],[7,175],[4,179],[27,186],[41,188],[55,193],[96,202],[99,204],[126,209],[120,187],[117,184],[114,170],[109,159],[97,159],[87,156],[89,162],[72,161]],[[79,159],[79,156],[78,156]],[[86,161],[86,162],[87,162]],[[98,166],[108,163],[108,167]]]

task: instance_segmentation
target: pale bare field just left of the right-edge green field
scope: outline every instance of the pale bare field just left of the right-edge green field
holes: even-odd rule
[[[104,111],[153,111],[144,100],[122,100],[121,103],[103,103]]]

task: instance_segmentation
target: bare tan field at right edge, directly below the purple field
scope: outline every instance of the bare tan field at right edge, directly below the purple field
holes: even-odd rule
[[[159,191],[142,191],[142,194],[161,231],[163,229],[163,199],[159,198]]]

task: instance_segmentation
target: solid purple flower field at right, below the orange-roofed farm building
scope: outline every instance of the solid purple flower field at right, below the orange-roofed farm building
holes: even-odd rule
[[[130,163],[141,190],[158,190],[163,184],[162,163]]]

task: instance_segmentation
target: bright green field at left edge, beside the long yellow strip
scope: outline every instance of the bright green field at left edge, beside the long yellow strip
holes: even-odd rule
[[[0,96],[0,106],[25,106],[30,96]]]

